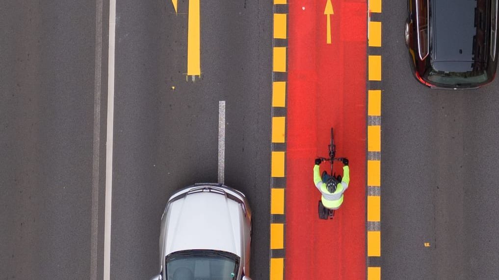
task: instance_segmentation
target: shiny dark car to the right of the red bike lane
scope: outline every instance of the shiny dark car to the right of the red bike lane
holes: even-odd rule
[[[478,88],[497,67],[498,0],[409,0],[405,41],[416,78],[431,88]]]

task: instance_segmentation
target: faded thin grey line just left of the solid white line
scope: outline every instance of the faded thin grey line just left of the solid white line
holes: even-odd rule
[[[102,0],[95,1],[94,131],[92,156],[92,212],[90,238],[90,280],[97,280],[97,229],[99,220],[100,87],[102,66]]]

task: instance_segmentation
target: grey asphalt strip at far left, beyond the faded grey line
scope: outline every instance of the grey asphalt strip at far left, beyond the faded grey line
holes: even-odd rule
[[[90,278],[95,6],[0,3],[2,279]]]

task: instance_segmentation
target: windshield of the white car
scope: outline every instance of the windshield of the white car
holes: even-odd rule
[[[236,280],[239,257],[216,250],[186,250],[166,256],[167,280]]]

